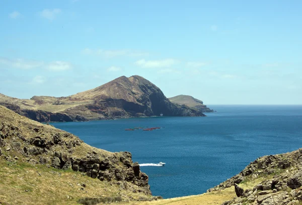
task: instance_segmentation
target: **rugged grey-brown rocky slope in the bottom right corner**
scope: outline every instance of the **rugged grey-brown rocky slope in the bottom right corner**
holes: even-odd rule
[[[208,190],[208,192],[235,186],[237,198],[229,204],[301,204],[302,203],[302,149],[278,155],[260,157],[236,176]],[[243,190],[240,183],[266,178],[252,189]]]

